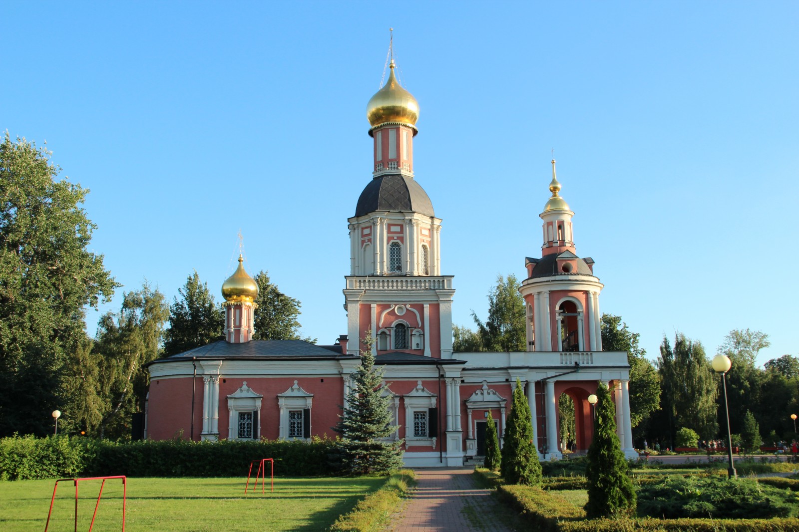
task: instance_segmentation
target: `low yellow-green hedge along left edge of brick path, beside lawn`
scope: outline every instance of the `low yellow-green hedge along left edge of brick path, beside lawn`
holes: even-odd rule
[[[402,498],[415,485],[412,470],[403,469],[392,474],[385,485],[358,502],[355,509],[336,519],[330,527],[333,532],[369,532],[382,530],[396,511]]]

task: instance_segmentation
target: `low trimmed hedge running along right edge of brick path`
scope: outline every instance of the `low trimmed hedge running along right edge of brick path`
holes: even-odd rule
[[[585,518],[585,511],[536,486],[499,486],[500,500],[523,515],[535,530],[559,530],[559,522]]]

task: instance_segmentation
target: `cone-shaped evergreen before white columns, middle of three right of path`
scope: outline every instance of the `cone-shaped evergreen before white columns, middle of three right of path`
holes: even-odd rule
[[[505,422],[499,474],[507,484],[530,486],[541,484],[541,463],[533,443],[530,406],[527,404],[524,388],[519,379],[516,379],[516,387],[513,391],[511,413]]]

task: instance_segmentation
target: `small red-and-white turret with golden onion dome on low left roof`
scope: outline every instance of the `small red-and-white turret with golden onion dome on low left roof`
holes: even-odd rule
[[[222,283],[225,298],[225,340],[229,343],[246,343],[255,332],[254,312],[258,306],[258,284],[244,271],[244,258],[239,255],[239,266],[232,276]]]

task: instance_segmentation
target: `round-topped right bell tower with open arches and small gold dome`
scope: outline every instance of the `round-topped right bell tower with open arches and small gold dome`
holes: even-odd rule
[[[527,279],[519,288],[527,314],[527,351],[602,351],[599,292],[594,260],[574,248],[571,217],[560,197],[552,161],[552,196],[539,215],[543,220],[542,258],[527,257]]]

